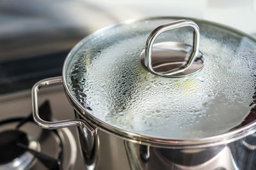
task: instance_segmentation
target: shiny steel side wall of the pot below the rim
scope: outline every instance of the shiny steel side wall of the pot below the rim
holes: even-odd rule
[[[76,118],[80,116],[75,111]],[[78,127],[88,169],[255,169],[255,134],[226,145],[172,149],[141,145],[105,131],[89,136]]]

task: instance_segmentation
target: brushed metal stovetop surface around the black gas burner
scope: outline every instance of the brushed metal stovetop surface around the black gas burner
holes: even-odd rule
[[[62,85],[49,87],[45,90],[42,90],[42,93],[39,95],[39,99],[40,104],[44,103],[45,101],[49,101],[52,118],[57,120],[74,118],[74,111],[72,106],[70,106],[68,103],[67,98],[65,97]],[[1,96],[0,108],[0,120],[4,120],[6,118],[27,117],[32,110],[30,90]],[[15,129],[15,125],[18,123],[19,122],[13,122],[8,125],[1,125],[0,131],[4,131],[6,129]],[[76,127],[70,127],[68,129],[66,128],[58,130],[62,134],[64,143],[64,159],[62,162],[63,169],[69,169],[70,167],[74,167],[74,170],[85,169],[83,164],[83,156],[80,151],[79,140],[77,138]],[[60,142],[58,136],[51,132],[51,130],[42,130],[33,122],[26,123],[26,125],[20,127],[20,130],[27,132],[29,136],[38,139],[39,143],[41,143],[40,147],[43,153],[51,155],[52,157],[58,157],[58,153],[60,152],[58,145],[60,145]],[[67,131],[71,132],[72,134],[68,133]],[[72,147],[70,147],[70,145],[72,144],[70,144],[70,140],[68,138],[72,138],[72,136],[74,136],[75,140],[75,142],[73,141],[72,144],[76,145],[75,158],[70,158],[70,155],[72,155],[72,152],[70,152],[70,148]],[[74,157],[74,153],[72,157]],[[70,164],[72,165],[70,166]],[[45,166],[42,166],[40,162],[35,164],[32,169],[38,169],[38,167],[40,167],[40,169],[47,169]]]

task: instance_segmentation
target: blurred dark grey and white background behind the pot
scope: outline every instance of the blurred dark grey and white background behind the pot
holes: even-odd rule
[[[1,0],[0,94],[61,76],[72,46],[97,29],[156,16],[202,18],[256,36],[256,0]]]

